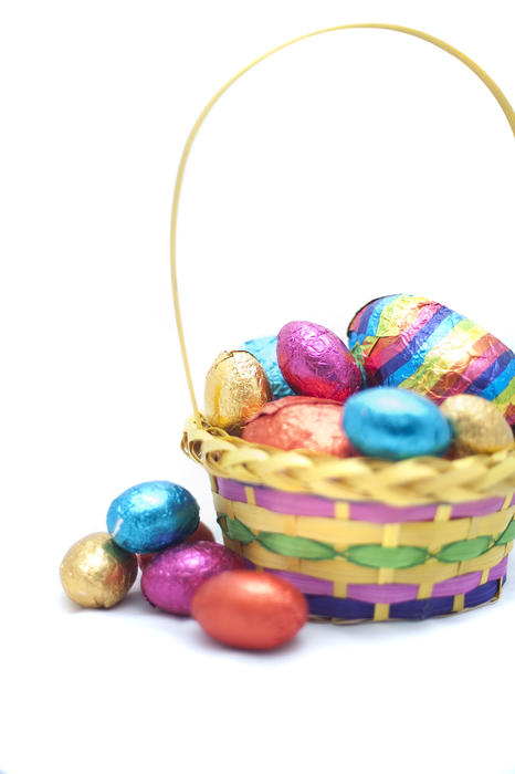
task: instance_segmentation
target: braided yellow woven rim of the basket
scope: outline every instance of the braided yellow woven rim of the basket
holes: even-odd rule
[[[332,500],[388,505],[458,503],[515,491],[515,450],[458,460],[414,457],[391,462],[340,459],[303,449],[283,451],[229,436],[202,418],[187,421],[182,450],[214,477]]]

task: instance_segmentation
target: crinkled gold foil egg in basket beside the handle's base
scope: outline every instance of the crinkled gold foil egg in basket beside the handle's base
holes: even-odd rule
[[[206,377],[206,417],[214,427],[237,433],[245,421],[272,400],[260,363],[248,352],[222,352]]]

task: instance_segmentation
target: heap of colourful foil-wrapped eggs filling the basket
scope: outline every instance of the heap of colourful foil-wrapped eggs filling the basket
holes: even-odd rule
[[[348,346],[306,321],[217,357],[206,418],[243,440],[335,457],[403,460],[514,446],[515,355],[421,296],[366,304]]]

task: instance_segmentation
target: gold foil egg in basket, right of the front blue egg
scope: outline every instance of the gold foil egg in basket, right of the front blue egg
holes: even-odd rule
[[[454,430],[453,451],[459,457],[513,448],[512,428],[490,400],[476,395],[453,395],[440,409]]]

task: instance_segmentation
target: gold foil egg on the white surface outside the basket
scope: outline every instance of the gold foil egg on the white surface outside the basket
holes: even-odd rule
[[[136,556],[117,546],[107,532],[77,541],[61,563],[63,588],[82,607],[113,607],[128,594],[137,574]]]

